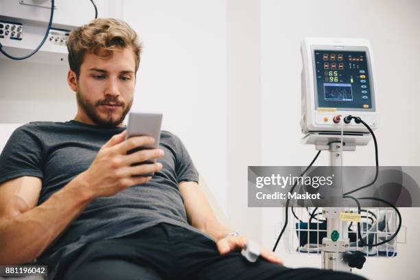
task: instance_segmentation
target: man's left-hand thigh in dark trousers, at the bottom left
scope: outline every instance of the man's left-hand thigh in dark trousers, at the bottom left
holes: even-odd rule
[[[159,224],[113,240],[86,244],[58,265],[55,279],[163,279],[172,259]]]

